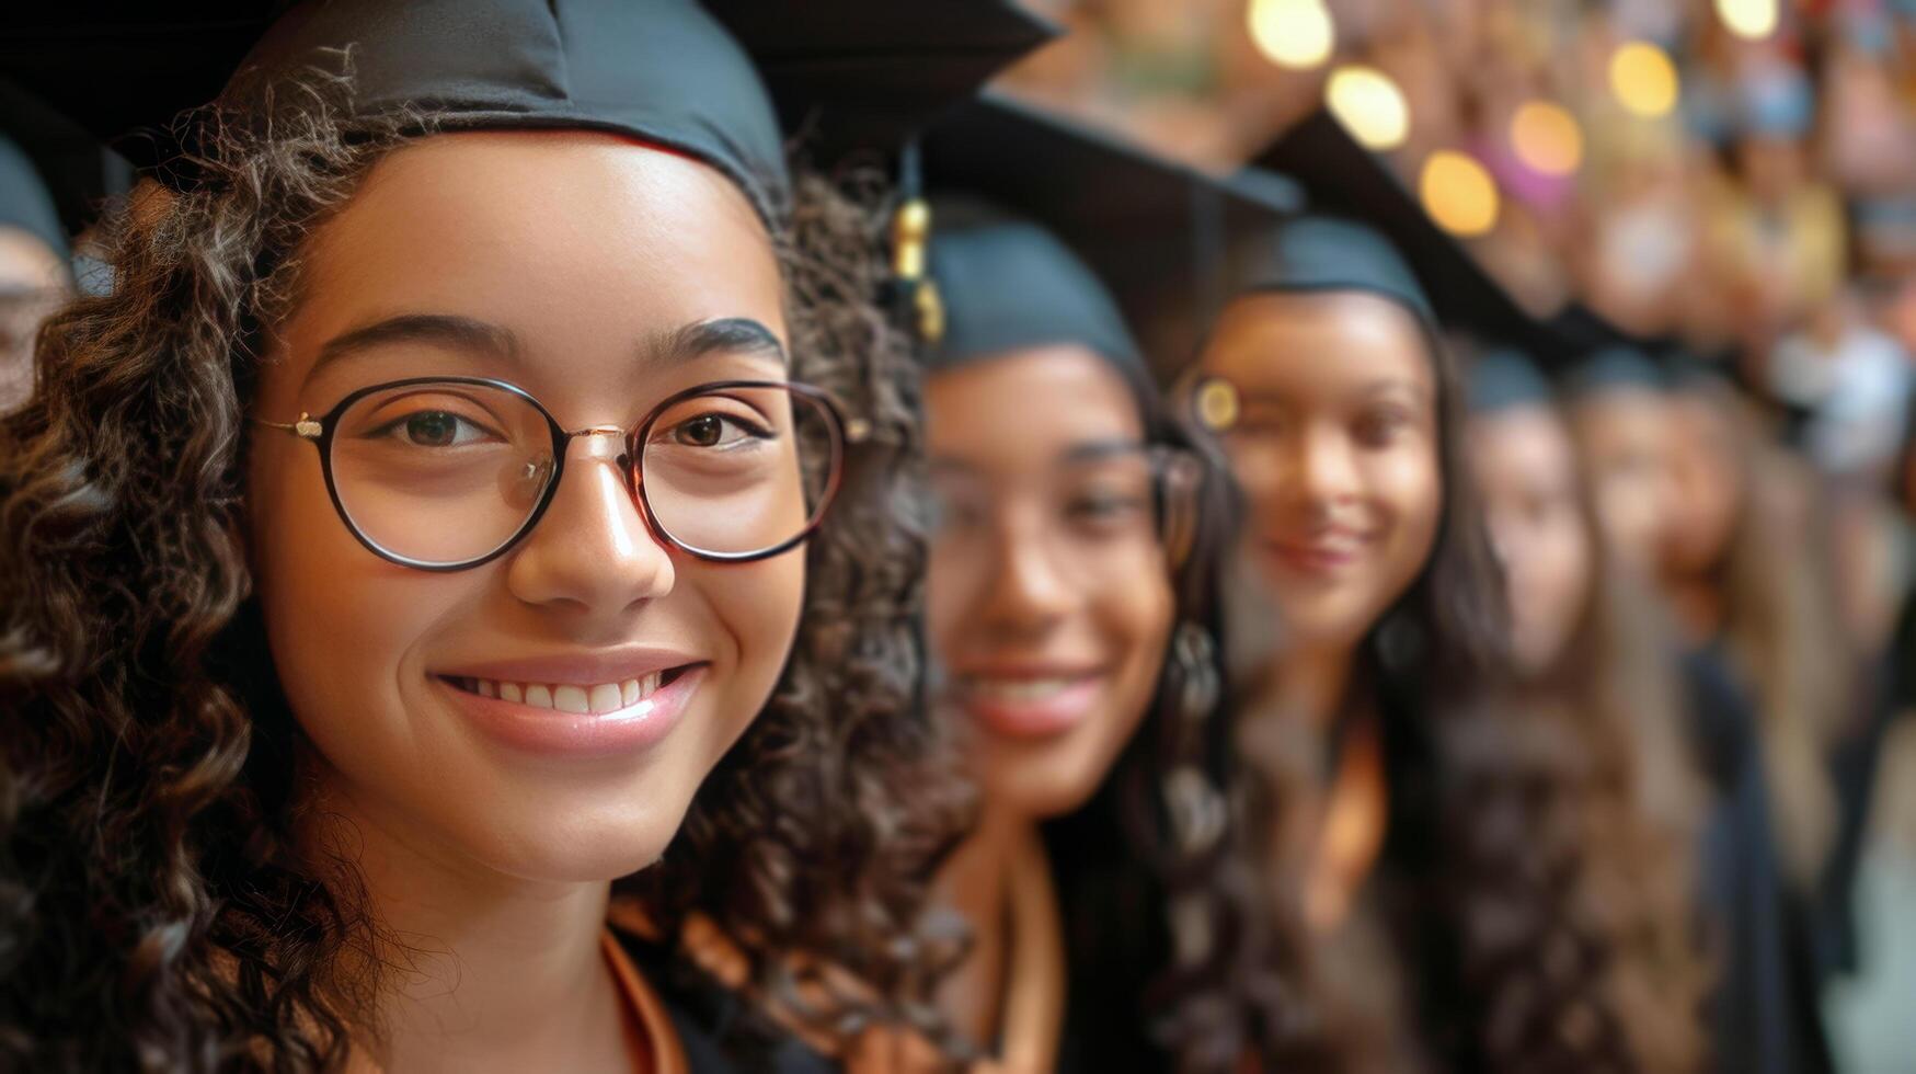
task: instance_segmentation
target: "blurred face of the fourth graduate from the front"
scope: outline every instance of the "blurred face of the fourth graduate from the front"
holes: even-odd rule
[[[1575,633],[1596,570],[1575,443],[1554,407],[1508,407],[1470,420],[1470,462],[1504,566],[1512,648],[1540,673]]]

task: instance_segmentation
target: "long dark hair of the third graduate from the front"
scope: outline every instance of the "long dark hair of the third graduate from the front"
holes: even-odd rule
[[[1404,882],[1395,884],[1401,898],[1391,899],[1389,921],[1378,922],[1381,932],[1343,946],[1358,955],[1312,934],[1303,892],[1316,832],[1297,821],[1320,794],[1324,748],[1289,721],[1280,719],[1276,731],[1259,721],[1270,740],[1240,750],[1230,788],[1236,882],[1261,907],[1238,949],[1251,997],[1243,1051],[1265,1070],[1404,1070],[1418,1036],[1464,1024],[1456,1013],[1412,1007],[1414,999],[1447,999],[1439,982],[1458,965],[1447,940],[1426,936],[1412,917],[1439,911],[1437,896],[1424,890],[1424,878],[1439,869],[1437,729],[1508,675],[1508,614],[1464,453],[1456,361],[1437,332],[1418,322],[1437,382],[1443,514],[1424,570],[1358,642],[1351,685],[1353,696],[1376,700],[1389,786],[1383,863]],[[1272,685],[1268,665],[1232,683],[1234,735],[1259,715]]]

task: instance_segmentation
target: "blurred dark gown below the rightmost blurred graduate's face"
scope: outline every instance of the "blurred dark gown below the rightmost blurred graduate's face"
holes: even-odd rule
[[[1809,907],[1784,882],[1755,704],[1711,648],[1684,654],[1680,667],[1692,748],[1713,792],[1698,869],[1721,959],[1709,1001],[1713,1068],[1830,1072]]]

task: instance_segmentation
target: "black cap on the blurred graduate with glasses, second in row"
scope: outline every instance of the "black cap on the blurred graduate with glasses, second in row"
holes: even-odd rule
[[[1232,230],[1268,228],[1284,215],[1276,198],[1253,198],[1192,167],[1150,153],[1121,138],[1054,117],[1004,94],[985,94],[933,127],[922,144],[924,184],[933,194],[931,257],[992,228],[992,257],[1033,261],[1017,288],[969,270],[991,292],[962,293],[941,286],[948,338],[960,343],[969,324],[1015,316],[1025,332],[1050,322],[1054,332],[1117,349],[1121,326],[1104,324],[1100,309],[1115,303],[1159,380],[1171,380],[1194,353],[1211,315],[1222,305],[1220,245]],[[950,217],[939,205],[958,196],[973,205]],[[979,209],[975,201],[994,209]],[[1017,221],[1014,221],[1014,215]],[[1015,238],[1023,234],[1025,238]],[[1042,238],[1040,238],[1042,236]],[[1069,253],[1065,253],[1069,251]],[[977,257],[987,251],[973,249]],[[1061,255],[1061,257],[1060,257]],[[1081,292],[1090,267],[1109,297]],[[1052,263],[1050,270],[1042,268]],[[1050,290],[1029,276],[1046,272]],[[969,313],[975,309],[977,313]],[[1002,326],[989,328],[1002,336]],[[973,336],[975,338],[975,336]],[[1100,343],[1102,341],[1102,343]]]

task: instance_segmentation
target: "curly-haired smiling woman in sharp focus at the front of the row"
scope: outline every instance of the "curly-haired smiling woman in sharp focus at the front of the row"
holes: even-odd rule
[[[487,15],[295,8],[0,426],[0,1066],[722,1066],[694,917],[922,986],[874,217],[701,8]]]

